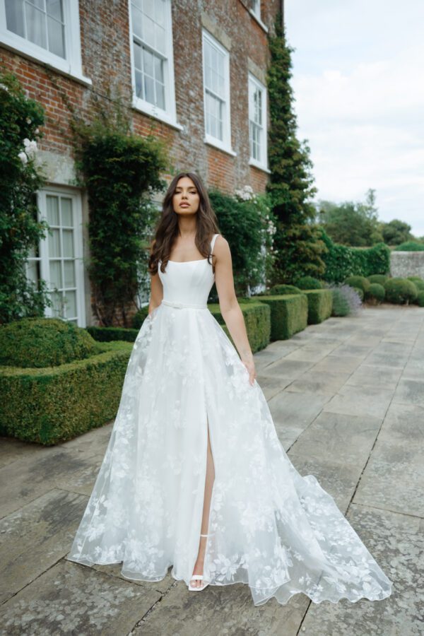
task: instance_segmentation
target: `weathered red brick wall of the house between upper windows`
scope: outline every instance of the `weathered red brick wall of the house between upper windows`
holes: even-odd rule
[[[278,0],[261,3],[261,19],[271,33],[279,4]],[[100,100],[107,100],[109,90],[118,87],[123,95],[129,98],[131,95],[128,0],[80,0],[79,7],[83,73],[93,81],[93,86],[84,86],[45,69],[42,63],[0,45],[1,63],[16,73],[29,96],[45,107],[45,136],[40,148],[66,155],[72,154],[66,101],[81,117],[89,120],[90,91]],[[202,7],[231,42],[230,117],[235,157],[203,141]],[[266,33],[247,10],[247,1],[242,0],[172,0],[172,27],[177,122],[184,130],[177,131],[133,110],[134,131],[140,135],[153,133],[166,139],[175,171],[199,172],[207,186],[217,186],[227,192],[245,184],[252,185],[256,192],[263,192],[268,178],[266,172],[249,166],[247,58],[266,70],[269,60]]]

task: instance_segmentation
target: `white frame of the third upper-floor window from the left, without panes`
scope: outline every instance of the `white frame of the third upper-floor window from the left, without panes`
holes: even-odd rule
[[[224,55],[224,73],[225,73],[225,101],[224,101],[224,114],[223,114],[223,140],[221,141],[217,137],[213,137],[211,134],[206,132],[206,73],[205,73],[205,54],[204,47],[205,42],[210,43],[213,47],[216,47],[220,52]],[[231,148],[231,104],[230,104],[230,52],[228,49],[225,49],[223,45],[216,40],[211,33],[209,33],[206,29],[202,29],[202,69],[203,69],[203,84],[204,84],[204,142],[210,144],[211,146],[215,146],[220,150],[228,153],[232,156],[236,156]]]

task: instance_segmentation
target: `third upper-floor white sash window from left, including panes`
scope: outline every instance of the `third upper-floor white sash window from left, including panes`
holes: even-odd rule
[[[203,30],[205,139],[221,150],[231,149],[230,53]]]

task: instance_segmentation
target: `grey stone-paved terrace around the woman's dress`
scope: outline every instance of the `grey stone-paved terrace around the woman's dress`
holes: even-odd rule
[[[255,607],[244,584],[191,593],[168,572],[66,560],[112,425],[57,447],[0,446],[0,634],[409,636],[424,633],[424,309],[331,318],[254,356],[281,442],[387,575],[386,601]]]

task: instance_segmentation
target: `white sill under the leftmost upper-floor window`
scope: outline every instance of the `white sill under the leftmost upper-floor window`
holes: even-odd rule
[[[23,44],[20,40],[22,40]],[[60,57],[55,57],[54,55],[49,54],[48,51],[33,45],[32,42],[23,40],[23,38],[20,38],[19,36],[13,37],[13,34],[10,34],[8,31],[1,31],[0,43],[13,53],[17,53],[35,61],[37,64],[45,66],[47,69],[57,71],[57,73],[76,80],[84,86],[91,86],[93,84],[90,78],[83,75],[81,69],[76,69],[75,66],[69,64],[69,61],[62,60]]]

